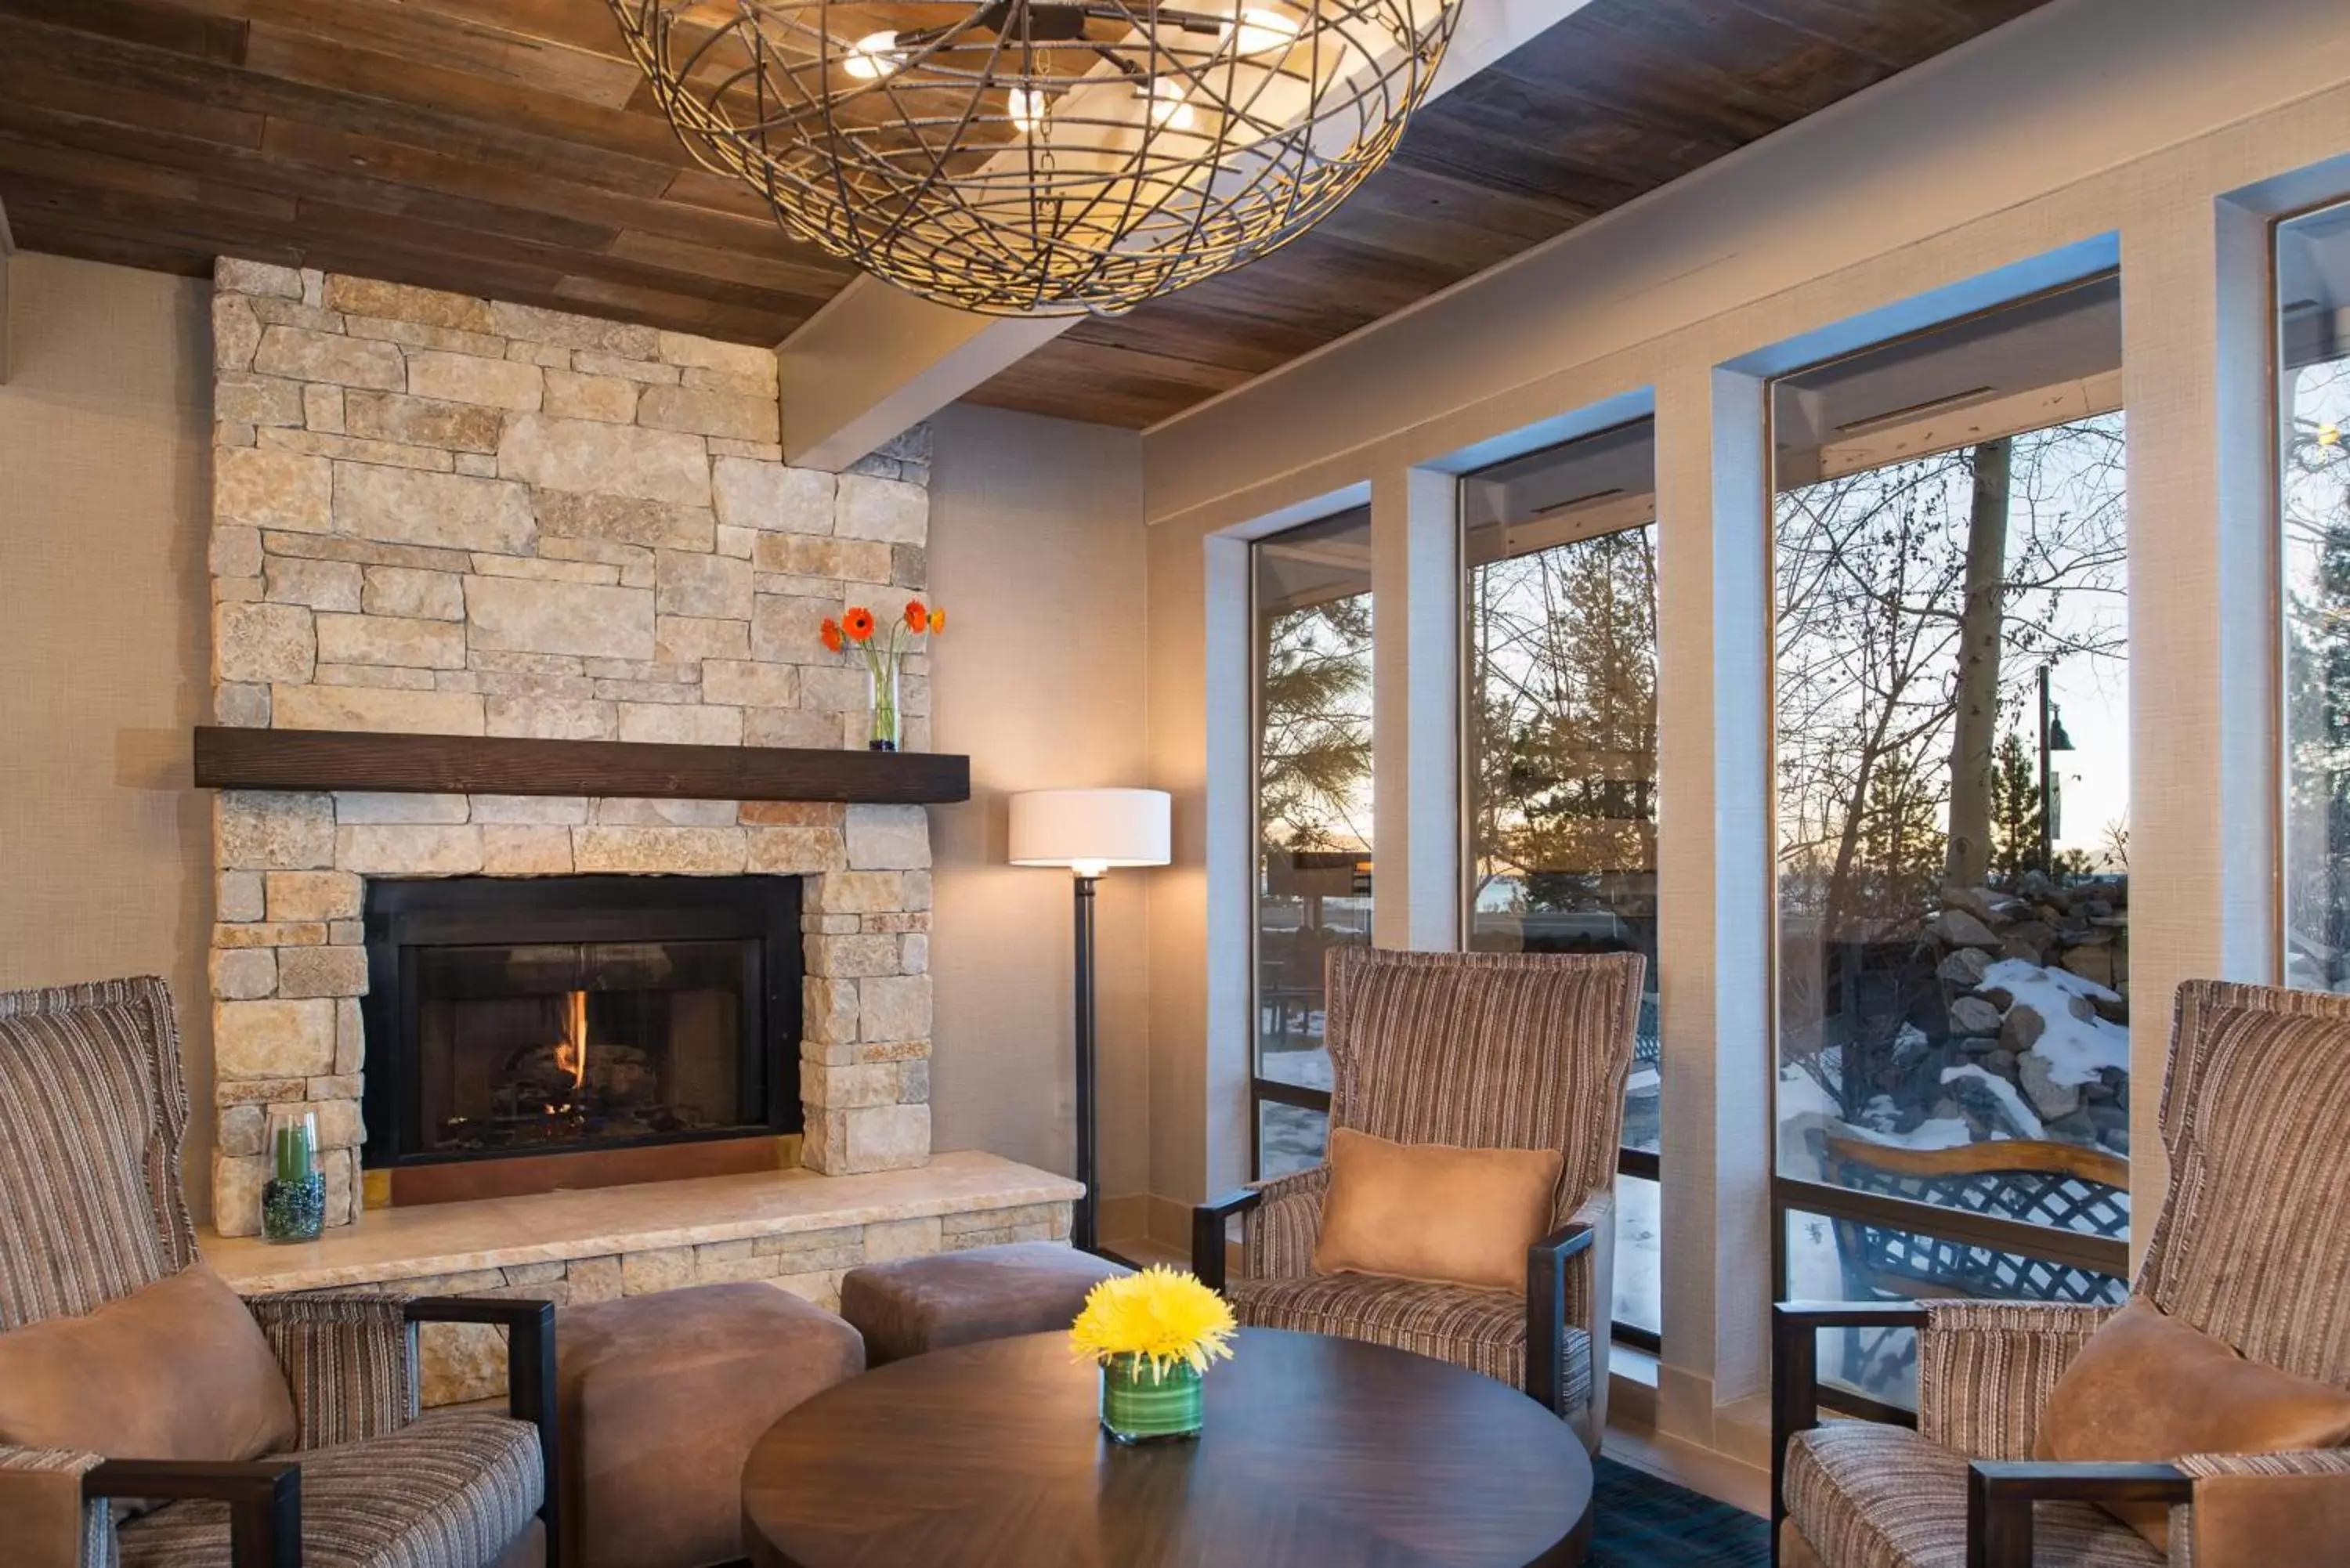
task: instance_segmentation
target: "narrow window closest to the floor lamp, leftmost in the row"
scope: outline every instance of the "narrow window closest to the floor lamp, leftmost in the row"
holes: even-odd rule
[[[1323,1157],[1323,957],[1370,945],[1370,510],[1257,541],[1257,1175]]]

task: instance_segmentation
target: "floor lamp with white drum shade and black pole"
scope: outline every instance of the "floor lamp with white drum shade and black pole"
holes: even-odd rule
[[[1069,1241],[1100,1251],[1095,1171],[1093,889],[1121,865],[1168,863],[1166,790],[1029,790],[1013,795],[1013,865],[1055,865],[1076,889],[1076,1180],[1086,1197],[1069,1218]]]

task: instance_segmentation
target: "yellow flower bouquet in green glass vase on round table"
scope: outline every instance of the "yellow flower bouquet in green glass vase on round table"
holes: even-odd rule
[[[1196,1436],[1201,1375],[1231,1356],[1231,1307],[1182,1269],[1104,1279],[1069,1328],[1102,1368],[1102,1429],[1121,1443]]]

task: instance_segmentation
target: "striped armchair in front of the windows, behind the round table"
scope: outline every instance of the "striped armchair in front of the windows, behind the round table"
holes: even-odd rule
[[[1645,959],[1342,947],[1328,961],[1330,1126],[1394,1143],[1560,1150],[1525,1291],[1316,1274],[1328,1166],[1194,1211],[1191,1267],[1260,1328],[1394,1345],[1523,1387],[1598,1453],[1614,1307],[1614,1164]],[[1231,1215],[1246,1267],[1227,1281]]]

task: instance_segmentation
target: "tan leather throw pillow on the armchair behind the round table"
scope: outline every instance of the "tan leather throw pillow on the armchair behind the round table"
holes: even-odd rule
[[[1330,1131],[1316,1274],[1396,1274],[1525,1288],[1525,1248],[1551,1229],[1558,1150],[1457,1150]]]

